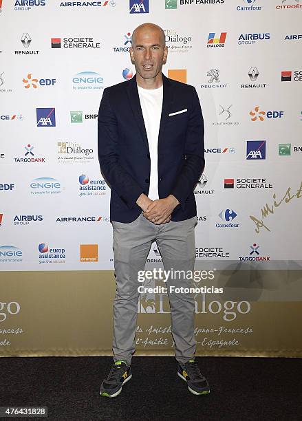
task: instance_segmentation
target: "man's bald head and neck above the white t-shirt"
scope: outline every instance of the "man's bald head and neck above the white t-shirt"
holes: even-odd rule
[[[143,23],[133,31],[130,56],[139,84],[162,84],[162,65],[166,63],[167,54],[164,31],[160,26]]]

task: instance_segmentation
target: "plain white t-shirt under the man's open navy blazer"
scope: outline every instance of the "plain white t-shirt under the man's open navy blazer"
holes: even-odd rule
[[[140,106],[144,117],[149,143],[151,172],[149,199],[158,199],[158,133],[160,131],[160,117],[162,115],[163,87],[157,89],[144,89],[138,86]]]

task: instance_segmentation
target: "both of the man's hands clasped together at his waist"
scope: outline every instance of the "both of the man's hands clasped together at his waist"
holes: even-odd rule
[[[151,200],[142,193],[136,203],[142,208],[145,218],[155,225],[160,225],[170,222],[171,214],[180,202],[173,195],[164,199]]]

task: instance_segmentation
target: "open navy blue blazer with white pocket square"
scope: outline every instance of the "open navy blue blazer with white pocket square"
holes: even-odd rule
[[[163,77],[158,136],[158,195],[180,204],[172,221],[196,215],[193,190],[204,169],[204,121],[195,87]],[[183,111],[180,114],[177,111]],[[133,222],[142,209],[136,200],[149,193],[150,155],[136,76],[107,87],[98,112],[98,159],[111,187],[112,221]]]

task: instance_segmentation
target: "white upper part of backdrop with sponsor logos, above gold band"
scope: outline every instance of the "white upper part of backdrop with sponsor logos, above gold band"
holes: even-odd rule
[[[301,267],[299,0],[150,0],[149,13],[147,1],[0,3],[0,270],[113,269],[96,115],[103,89],[122,82],[124,69],[134,73],[127,40],[146,21],[166,30],[164,73],[186,70],[202,104],[206,169],[195,191],[197,265],[209,260],[230,268],[240,257],[265,257],[254,267]],[[224,45],[210,47],[209,34],[220,39],[224,32]],[[78,37],[91,45],[66,47],[64,38]],[[291,80],[281,81],[281,72],[292,72]],[[80,77],[88,82],[78,83]],[[54,111],[37,120],[36,109],[50,109],[44,117],[55,109],[55,125]],[[83,122],[71,111],[82,111]],[[250,159],[248,141],[258,142],[248,144]],[[72,148],[86,152],[67,153]],[[40,159],[22,162],[28,158]],[[81,175],[87,184],[80,184]],[[36,180],[43,177],[54,180]],[[224,188],[225,179],[234,179],[234,188]],[[92,261],[81,261],[81,244],[94,246],[82,250]],[[153,247],[149,259],[158,260]]]

